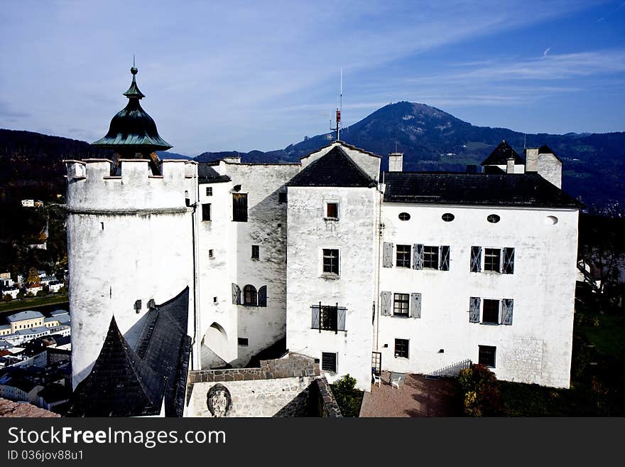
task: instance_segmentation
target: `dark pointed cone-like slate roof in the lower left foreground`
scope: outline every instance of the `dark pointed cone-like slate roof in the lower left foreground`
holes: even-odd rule
[[[138,417],[161,413],[165,378],[130,348],[115,318],[89,375],[72,396],[70,417]]]

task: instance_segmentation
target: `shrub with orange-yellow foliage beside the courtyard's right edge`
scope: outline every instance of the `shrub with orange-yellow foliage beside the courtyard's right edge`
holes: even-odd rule
[[[501,414],[501,398],[497,378],[485,365],[471,365],[460,370],[462,408],[471,417]]]

